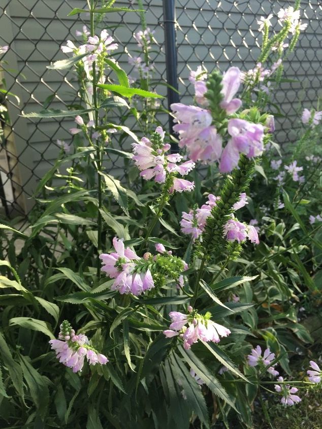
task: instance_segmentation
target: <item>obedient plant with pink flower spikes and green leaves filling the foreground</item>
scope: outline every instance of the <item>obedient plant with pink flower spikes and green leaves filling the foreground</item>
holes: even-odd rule
[[[73,143],[57,142],[59,158],[39,185],[31,233],[2,227],[25,244],[18,271],[12,245],[2,264],[1,287],[15,293],[1,300],[10,344],[0,335],[1,419],[22,427],[28,415],[35,427],[88,429],[239,420],[251,428],[251,409],[260,408],[269,424],[268,401],[300,406],[298,389],[318,389],[321,379],[315,361],[307,370],[312,339],[302,323],[306,309],[317,317],[307,270],[320,263],[319,206],[305,211],[311,226],[297,211],[309,205],[306,185],[314,195],[309,170],[314,164],[318,174],[320,158],[273,157],[267,107],[304,27],[299,4],[279,12],[274,35],[272,16],[259,21],[262,51],[252,70],[191,72],[197,105],[172,105],[182,149],[172,153],[173,140],[149,113],[153,32],[139,12],[142,57],[130,61],[140,79],[131,86],[111,56],[120,47],[102,28],[104,14],[119,10],[113,3],[89,2],[81,11],[89,27],[77,30],[80,42],[63,45],[68,59],[51,66],[74,69],[79,100],[77,110],[34,114],[69,116],[75,125]],[[302,149],[318,135],[318,113],[305,112]],[[132,114],[135,129],[122,122]],[[115,154],[125,159],[122,181],[111,170]],[[199,163],[209,167],[202,179]],[[255,172],[261,179],[252,181]]]

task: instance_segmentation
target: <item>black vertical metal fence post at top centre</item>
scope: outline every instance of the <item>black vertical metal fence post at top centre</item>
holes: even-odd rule
[[[178,90],[178,75],[177,75],[177,46],[176,46],[176,31],[175,31],[175,0],[163,0],[163,17],[165,31],[165,49],[166,49],[166,70],[167,83]],[[179,94],[168,86],[168,109],[172,103],[179,102]],[[169,115],[169,130],[173,135],[173,117]],[[173,145],[173,149],[177,151]]]

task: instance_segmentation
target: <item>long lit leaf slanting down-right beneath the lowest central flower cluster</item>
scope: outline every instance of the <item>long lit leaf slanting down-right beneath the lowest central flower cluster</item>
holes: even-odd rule
[[[209,389],[236,410],[233,399],[195,353],[191,350],[184,350],[182,346],[179,346],[178,349],[190,368],[207,384]]]

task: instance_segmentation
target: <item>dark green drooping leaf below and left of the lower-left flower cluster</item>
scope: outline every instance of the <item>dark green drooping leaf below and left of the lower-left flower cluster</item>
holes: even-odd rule
[[[37,413],[44,417],[49,405],[49,389],[45,378],[30,365],[26,356],[19,355],[23,377],[26,380]]]

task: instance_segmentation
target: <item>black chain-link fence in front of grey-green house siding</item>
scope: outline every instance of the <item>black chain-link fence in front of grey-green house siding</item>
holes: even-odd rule
[[[167,0],[164,0],[167,1]],[[130,6],[129,6],[130,3]],[[0,201],[7,217],[25,216],[32,206],[29,197],[37,181],[54,163],[59,148],[57,139],[71,141],[69,128],[74,123],[66,119],[24,119],[21,111],[31,112],[50,107],[68,108],[77,103],[77,85],[71,73],[65,70],[46,69],[50,62],[66,58],[60,46],[66,40],[75,40],[75,31],[88,24],[86,14],[68,17],[73,8],[86,8],[86,2],[76,0],[3,0],[0,15],[0,45],[9,45],[2,60],[2,72],[9,93],[3,97],[10,117],[10,125],[2,122],[3,138],[0,148]],[[159,94],[167,95],[164,15],[162,0],[143,2],[147,26],[155,31],[156,44],[150,51],[154,63],[154,87]],[[175,28],[177,72],[180,102],[190,104],[193,87],[189,84],[190,70],[201,63],[211,71],[221,71],[236,65],[243,71],[252,69],[260,50],[256,20],[273,14],[276,23],[280,8],[293,2],[250,0],[176,0]],[[137,8],[136,1],[120,1],[117,6]],[[316,107],[321,93],[320,63],[322,60],[322,3],[303,1],[302,20],[308,23],[301,34],[298,47],[285,62],[285,75],[294,82],[284,82],[274,94],[274,103],[283,116],[278,118],[275,140],[278,143],[293,141],[300,127],[299,114],[304,107]],[[130,56],[138,55],[134,32],[141,29],[136,13],[108,14],[101,22],[119,44],[115,58],[128,74],[135,75],[128,64]],[[166,98],[162,102],[168,108]],[[116,119],[116,117],[115,117]],[[168,127],[168,115],[158,120]],[[127,126],[132,126],[130,121]],[[117,145],[117,135],[114,137]],[[123,160],[113,158],[110,169],[122,174]]]

